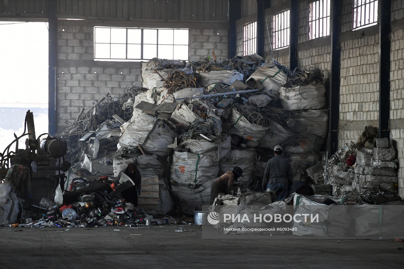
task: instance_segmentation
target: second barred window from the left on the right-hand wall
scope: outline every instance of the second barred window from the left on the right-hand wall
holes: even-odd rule
[[[272,19],[272,43],[274,49],[286,48],[290,42],[290,11],[274,15]]]

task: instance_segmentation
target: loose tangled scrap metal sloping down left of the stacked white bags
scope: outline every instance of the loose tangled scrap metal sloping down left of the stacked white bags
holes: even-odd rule
[[[117,150],[120,125],[132,117],[135,96],[146,90],[133,86],[126,88],[122,96],[107,94],[93,100],[91,108],[83,108],[73,123],[66,121],[67,126],[55,134],[67,143],[66,161],[81,162],[90,173],[110,173],[112,159],[109,155]]]

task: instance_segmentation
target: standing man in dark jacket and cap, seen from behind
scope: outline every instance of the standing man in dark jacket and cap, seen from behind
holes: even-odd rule
[[[271,158],[264,170],[262,188],[268,188],[276,193],[276,200],[280,201],[289,196],[293,183],[293,173],[290,163],[282,156],[282,147],[275,146],[275,156]]]

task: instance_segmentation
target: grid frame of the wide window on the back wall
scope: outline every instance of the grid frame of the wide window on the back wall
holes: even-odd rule
[[[95,42],[95,29],[96,28],[104,28],[104,29],[109,29],[109,43],[105,42]],[[126,31],[126,42],[125,43],[112,43],[111,42],[111,29],[125,29]],[[128,30],[130,29],[140,29],[141,30],[141,43],[140,44],[134,44],[134,43],[128,43]],[[156,44],[145,44],[143,42],[144,39],[144,30],[156,30]],[[159,30],[173,30],[173,44],[168,44],[168,46],[173,46],[173,58],[174,58],[174,48],[175,46],[187,46],[187,59],[168,59],[168,60],[186,60],[189,61],[189,28],[139,28],[139,27],[109,27],[109,26],[94,26],[94,60],[98,61],[133,61],[133,62],[140,62],[140,61],[145,61],[145,60],[150,60],[149,58],[143,58],[143,46],[144,45],[156,45],[156,57],[158,58],[158,46],[159,45],[167,45],[167,44],[159,44],[158,43],[158,31]],[[174,30],[187,30],[188,31],[188,44],[175,44],[174,40]],[[96,58],[95,53],[96,53],[96,44],[109,44],[109,58]],[[121,44],[125,45],[125,58],[111,58],[111,44]],[[128,45],[140,45],[140,57],[141,58],[128,58]]]

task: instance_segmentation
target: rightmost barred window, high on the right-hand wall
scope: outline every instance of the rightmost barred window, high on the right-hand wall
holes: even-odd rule
[[[353,30],[377,24],[377,4],[378,0],[353,0]]]

